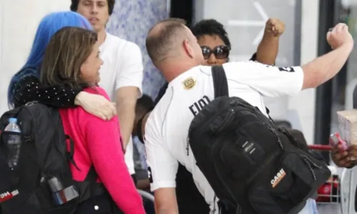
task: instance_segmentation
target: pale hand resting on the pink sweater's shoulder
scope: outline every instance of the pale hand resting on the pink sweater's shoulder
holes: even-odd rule
[[[76,96],[76,104],[82,106],[86,112],[103,120],[110,120],[116,116],[115,103],[111,103],[104,96],[98,94],[82,91]]]

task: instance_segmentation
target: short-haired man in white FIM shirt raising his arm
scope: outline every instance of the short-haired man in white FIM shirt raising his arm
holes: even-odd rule
[[[334,51],[301,67],[278,68],[253,61],[223,64],[230,96],[243,98],[266,114],[263,96],[294,96],[328,81],[340,71],[353,48],[347,28],[346,24],[338,24],[328,33],[328,43]],[[218,213],[211,186],[196,166],[192,153],[186,152],[193,117],[214,97],[211,67],[200,66],[201,48],[181,19],[156,24],[149,31],[146,49],[169,82],[165,95],[146,122],[144,136],[156,213],[178,213],[175,193],[178,162],[192,173],[211,213]]]

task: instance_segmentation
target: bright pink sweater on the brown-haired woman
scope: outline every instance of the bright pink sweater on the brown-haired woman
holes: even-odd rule
[[[101,94],[109,99],[103,88],[87,88],[89,93]],[[116,205],[129,214],[144,214],[144,206],[124,161],[121,146],[119,121],[115,116],[103,121],[83,108],[60,110],[64,131],[74,141],[74,161],[77,170],[71,165],[74,180],[83,181],[91,165],[94,165]]]

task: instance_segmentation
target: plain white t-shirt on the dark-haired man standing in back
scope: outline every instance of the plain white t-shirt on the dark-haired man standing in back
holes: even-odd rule
[[[136,44],[106,33],[106,40],[99,47],[101,66],[99,86],[108,93],[111,101],[116,99],[116,90],[123,86],[136,86],[142,93],[143,60],[141,50]],[[121,124],[122,126],[122,124]],[[125,162],[129,172],[135,173],[133,143],[130,139],[126,147]]]

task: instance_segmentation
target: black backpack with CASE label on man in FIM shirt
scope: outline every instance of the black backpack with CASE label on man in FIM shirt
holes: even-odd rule
[[[293,214],[330,177],[308,146],[251,104],[228,97],[223,67],[212,69],[215,99],[188,132],[196,165],[226,213]]]

